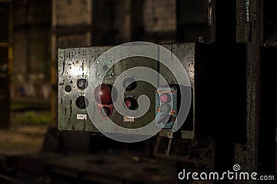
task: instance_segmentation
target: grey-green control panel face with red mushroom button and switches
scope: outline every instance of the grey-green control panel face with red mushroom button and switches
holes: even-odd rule
[[[134,48],[141,53],[129,45],[58,50],[60,131],[195,138],[196,45]]]

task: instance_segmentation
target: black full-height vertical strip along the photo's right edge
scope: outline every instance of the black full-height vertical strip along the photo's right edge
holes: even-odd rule
[[[263,12],[261,19],[263,41],[268,45],[277,42],[276,1],[262,1]],[[274,44],[273,44],[274,45]],[[266,46],[261,49],[260,62],[260,136],[259,136],[259,171],[262,174],[277,177],[277,75],[276,75],[276,46]],[[274,183],[274,182],[272,182]],[[276,182],[275,182],[276,183]]]

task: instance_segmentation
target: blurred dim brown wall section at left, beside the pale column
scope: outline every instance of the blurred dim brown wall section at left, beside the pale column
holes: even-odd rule
[[[14,1],[12,99],[49,98],[51,0]]]

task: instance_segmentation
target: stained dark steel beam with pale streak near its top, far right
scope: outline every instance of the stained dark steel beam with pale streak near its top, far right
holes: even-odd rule
[[[235,163],[241,172],[258,172],[260,134],[260,46],[263,40],[263,0],[237,0],[237,42],[247,48],[247,120],[245,141],[235,144]],[[242,182],[242,181],[241,181]],[[240,183],[237,181],[236,183]],[[253,181],[253,183],[255,183]]]

